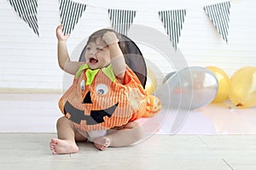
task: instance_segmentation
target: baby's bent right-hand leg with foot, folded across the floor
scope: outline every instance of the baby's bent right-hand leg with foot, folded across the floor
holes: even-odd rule
[[[122,128],[108,130],[108,135],[94,140],[96,148],[127,146],[143,138],[143,127],[138,122],[128,122]]]

